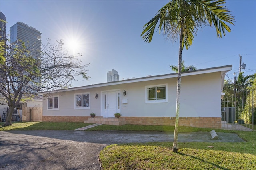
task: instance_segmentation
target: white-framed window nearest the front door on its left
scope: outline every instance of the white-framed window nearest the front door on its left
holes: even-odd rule
[[[75,94],[75,109],[90,109],[90,93]]]

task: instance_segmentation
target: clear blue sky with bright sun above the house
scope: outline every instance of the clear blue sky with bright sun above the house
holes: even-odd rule
[[[13,1],[0,0],[6,16],[6,31],[24,22],[52,43],[62,39],[71,55],[79,57],[87,69],[89,81],[77,77],[72,87],[107,82],[107,73],[115,69],[120,80],[174,73],[178,65],[178,41],[168,40],[156,30],[150,43],[140,36],[143,26],[169,1],[164,0],[80,0]],[[240,55],[244,75],[256,73],[256,1],[228,0],[226,7],[235,18],[231,32],[217,38],[215,28],[198,30],[192,46],[182,51],[185,65],[206,69],[233,65],[226,79],[238,75]],[[8,33],[10,34],[10,32]],[[74,47],[75,46],[75,47]],[[236,73],[234,75],[233,73]]]

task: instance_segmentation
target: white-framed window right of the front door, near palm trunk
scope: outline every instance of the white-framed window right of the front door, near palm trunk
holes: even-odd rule
[[[146,103],[162,103],[167,100],[167,84],[146,86]]]

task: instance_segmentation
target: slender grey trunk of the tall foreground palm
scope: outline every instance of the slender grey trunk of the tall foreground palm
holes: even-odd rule
[[[181,24],[183,25],[183,24]],[[182,43],[183,43],[183,27],[180,29],[180,49],[179,49],[179,65],[178,65],[178,81],[177,81],[177,101],[176,101],[176,118],[172,151],[178,152],[178,125],[180,114],[180,85],[181,85],[181,68],[182,68]]]

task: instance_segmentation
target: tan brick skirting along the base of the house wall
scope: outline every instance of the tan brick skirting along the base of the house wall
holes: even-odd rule
[[[44,122],[84,122],[90,116],[43,116]],[[133,125],[175,125],[175,117],[124,117],[125,123]],[[179,126],[221,128],[221,117],[179,117]]]

